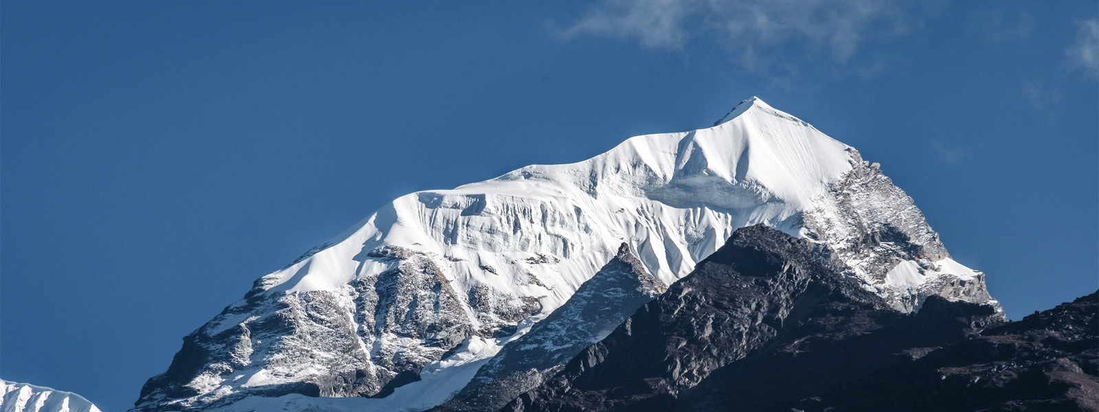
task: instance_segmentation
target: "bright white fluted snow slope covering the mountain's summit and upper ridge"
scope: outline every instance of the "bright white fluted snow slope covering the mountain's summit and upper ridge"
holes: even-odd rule
[[[360,255],[393,245],[439,256],[456,290],[545,296],[551,310],[628,242],[670,283],[737,227],[797,233],[799,213],[852,168],[847,146],[809,124],[756,99],[739,111],[712,129],[632,137],[585,162],[403,196],[265,279],[279,291],[340,289],[385,270]],[[540,256],[554,261],[529,261]]]

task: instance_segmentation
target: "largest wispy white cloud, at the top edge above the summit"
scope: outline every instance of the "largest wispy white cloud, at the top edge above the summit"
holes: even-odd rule
[[[780,65],[775,49],[843,65],[868,41],[907,32],[912,22],[901,9],[892,0],[602,0],[559,33],[663,49],[712,37],[747,69]]]

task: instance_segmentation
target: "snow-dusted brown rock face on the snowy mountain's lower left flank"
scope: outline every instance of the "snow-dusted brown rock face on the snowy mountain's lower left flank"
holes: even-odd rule
[[[252,394],[386,396],[419,379],[475,332],[474,322],[430,256],[371,252],[390,268],[336,292],[249,292],[226,308],[184,339],[168,371],[145,383],[136,409],[212,408]],[[536,302],[514,308],[496,299],[486,291],[470,300],[489,307],[485,316],[512,322],[537,310]],[[256,359],[263,368],[253,367]],[[240,389],[219,391],[219,377],[232,372]]]

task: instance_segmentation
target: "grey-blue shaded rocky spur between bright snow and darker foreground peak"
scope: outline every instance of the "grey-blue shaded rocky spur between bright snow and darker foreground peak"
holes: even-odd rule
[[[481,366],[451,401],[433,411],[492,411],[556,374],[642,304],[666,290],[626,244],[545,320]]]

